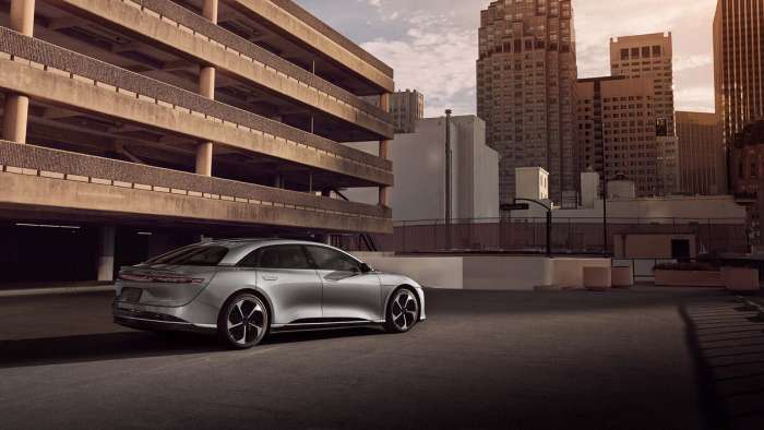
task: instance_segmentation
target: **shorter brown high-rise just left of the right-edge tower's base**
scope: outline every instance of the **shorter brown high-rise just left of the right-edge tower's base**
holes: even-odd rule
[[[677,111],[679,178],[683,193],[724,194],[727,164],[716,114]]]

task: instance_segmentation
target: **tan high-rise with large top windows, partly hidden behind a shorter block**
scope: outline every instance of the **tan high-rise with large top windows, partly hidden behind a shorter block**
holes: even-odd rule
[[[662,184],[659,195],[679,190],[679,160],[673,119],[673,47],[671,33],[624,36],[610,39],[610,73],[613,76],[647,77],[655,86],[656,175]]]

